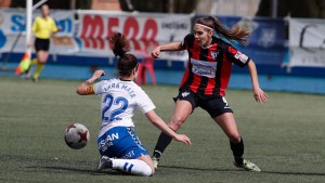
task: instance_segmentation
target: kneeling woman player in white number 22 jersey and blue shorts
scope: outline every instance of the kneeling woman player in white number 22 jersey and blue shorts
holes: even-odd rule
[[[102,95],[102,126],[98,146],[101,159],[98,171],[106,168],[121,170],[131,174],[150,177],[154,174],[153,161],[134,132],[132,117],[138,106],[146,118],[159,130],[172,139],[190,145],[190,139],[172,131],[154,112],[155,105],[147,94],[133,80],[138,75],[138,61],[128,54],[126,38],[117,32],[109,41],[113,52],[119,56],[119,78],[102,80],[92,84],[103,70],[96,70],[91,78],[80,83],[77,93],[80,95]]]

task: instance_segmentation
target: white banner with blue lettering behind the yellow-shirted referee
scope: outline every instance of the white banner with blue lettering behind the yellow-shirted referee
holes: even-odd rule
[[[32,17],[40,16],[40,11],[35,11]],[[78,50],[73,39],[75,31],[74,11],[51,11],[61,31],[52,37],[50,52],[70,53]],[[25,52],[26,50],[26,11],[24,9],[0,10],[0,50],[1,52]],[[14,47],[13,47],[14,45]],[[13,49],[13,50],[12,50]]]

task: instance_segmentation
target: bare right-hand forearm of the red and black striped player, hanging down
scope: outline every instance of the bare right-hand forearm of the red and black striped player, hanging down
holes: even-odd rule
[[[268,94],[260,88],[259,80],[258,80],[258,74],[257,68],[252,60],[250,60],[247,64],[250,78],[251,78],[251,84],[252,84],[252,93],[253,97],[258,103],[264,103],[268,101],[269,96]]]

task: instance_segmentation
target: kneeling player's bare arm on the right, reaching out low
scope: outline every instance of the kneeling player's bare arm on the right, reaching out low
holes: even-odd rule
[[[173,140],[183,142],[186,145],[191,145],[190,138],[187,138],[185,134],[178,134],[171,130],[154,110],[147,112],[145,116],[155,127],[157,127],[167,135],[171,136]]]

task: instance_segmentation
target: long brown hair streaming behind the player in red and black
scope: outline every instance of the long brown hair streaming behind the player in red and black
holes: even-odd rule
[[[240,28],[238,25],[235,25],[231,29],[227,29],[217,17],[213,16],[200,17],[196,19],[195,23],[214,29],[218,36],[229,40],[230,42],[234,42],[235,40],[243,45],[248,45],[247,38],[250,36],[250,32],[247,29]]]

